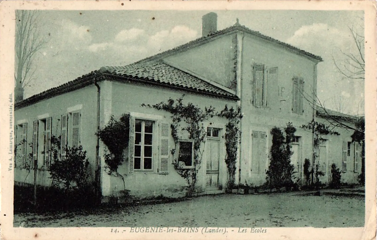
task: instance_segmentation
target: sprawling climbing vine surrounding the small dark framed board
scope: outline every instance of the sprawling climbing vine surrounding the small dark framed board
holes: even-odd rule
[[[203,122],[215,115],[215,108],[210,106],[201,109],[192,103],[185,104],[182,102],[183,97],[184,95],[176,100],[169,98],[166,102],[160,102],[154,105],[142,104],[142,106],[167,111],[172,114],[170,128],[175,143],[175,148],[171,150],[174,159],[173,165],[178,174],[181,175],[189,185],[187,194],[190,196],[196,190],[197,175],[204,154],[204,143],[207,131],[204,128]],[[185,122],[186,125],[181,126],[182,122]],[[189,139],[193,140],[193,168],[182,169],[178,165],[178,157],[175,151],[179,142],[179,131],[186,131],[189,135]]]

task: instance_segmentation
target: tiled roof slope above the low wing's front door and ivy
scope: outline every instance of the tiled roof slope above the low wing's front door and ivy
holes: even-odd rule
[[[107,66],[101,67],[101,71],[115,76],[144,79],[162,85],[170,85],[191,91],[238,99],[236,95],[228,91],[222,90],[198,77],[161,61],[148,64],[131,64],[124,67]]]

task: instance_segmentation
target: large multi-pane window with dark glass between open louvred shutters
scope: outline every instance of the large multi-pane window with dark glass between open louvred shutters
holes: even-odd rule
[[[153,121],[135,120],[135,170],[152,170]]]

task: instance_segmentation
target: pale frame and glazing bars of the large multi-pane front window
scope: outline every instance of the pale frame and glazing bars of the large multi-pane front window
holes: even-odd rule
[[[141,121],[141,132],[136,132],[136,121]],[[150,157],[151,158],[151,168],[150,169],[144,169],[144,135],[145,135],[145,122],[146,121],[149,121],[149,122],[152,122],[152,133],[147,133],[147,134],[152,134],[152,156]],[[156,137],[156,126],[157,126],[157,121],[156,120],[153,120],[153,119],[149,119],[149,118],[143,118],[143,117],[135,117],[135,142],[134,142],[134,150],[133,150],[133,171],[135,172],[153,172],[154,171],[154,167],[155,167],[155,164],[154,164],[154,161],[155,161],[155,158],[154,158],[154,154],[155,153],[155,137]],[[144,125],[144,128],[143,128],[143,125]],[[139,133],[141,134],[141,143],[142,144],[136,144],[136,134]],[[140,146],[140,156],[135,156],[135,149],[136,149],[136,146]],[[150,145],[147,145],[147,146],[150,146]],[[135,168],[135,158],[140,158],[140,169],[136,169]],[[148,157],[147,157],[148,158]]]

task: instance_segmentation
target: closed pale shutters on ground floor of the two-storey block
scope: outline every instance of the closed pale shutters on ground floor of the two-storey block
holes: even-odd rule
[[[252,159],[251,173],[264,173],[267,164],[266,132],[253,131],[252,135]]]

